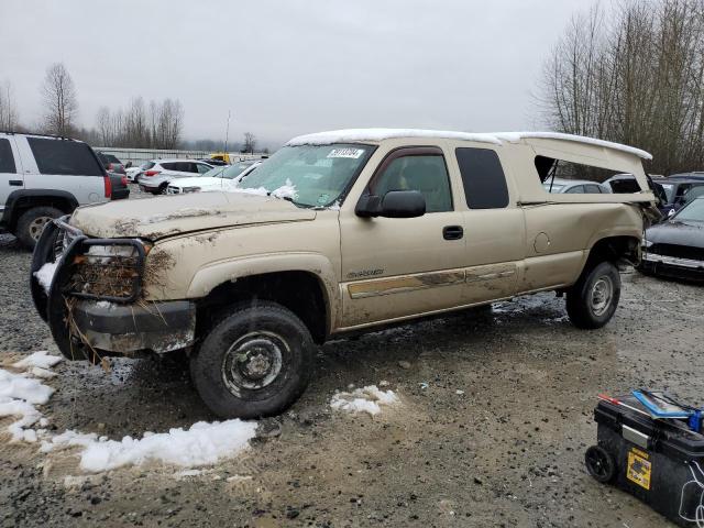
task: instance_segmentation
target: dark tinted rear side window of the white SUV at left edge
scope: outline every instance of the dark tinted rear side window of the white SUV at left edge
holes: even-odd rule
[[[86,144],[47,138],[26,139],[41,174],[105,176],[105,169]]]

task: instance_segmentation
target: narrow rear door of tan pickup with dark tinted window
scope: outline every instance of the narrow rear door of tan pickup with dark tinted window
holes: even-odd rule
[[[526,240],[524,213],[514,198],[516,191],[506,179],[496,151],[458,147],[454,154],[468,207],[462,304],[510,297],[517,290]]]

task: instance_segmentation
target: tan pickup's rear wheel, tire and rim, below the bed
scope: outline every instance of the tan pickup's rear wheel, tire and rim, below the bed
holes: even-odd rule
[[[602,328],[614,316],[619,298],[618,268],[610,262],[602,262],[584,272],[568,290],[568,315],[578,328]]]

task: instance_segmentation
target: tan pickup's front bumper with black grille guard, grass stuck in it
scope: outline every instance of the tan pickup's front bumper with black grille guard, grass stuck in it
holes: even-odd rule
[[[69,242],[56,256],[58,235]],[[141,248],[135,270],[139,280],[124,283],[124,296],[72,289],[74,266],[85,250],[97,244]],[[141,275],[145,251],[138,239],[89,239],[66,223],[66,217],[48,223],[40,238],[31,267],[31,289],[40,316],[48,323],[54,341],[69,359],[96,361],[103,353],[134,356],[142,352],[164,353],[195,342],[196,305],[188,300],[145,301],[141,297]],[[54,261],[56,258],[56,261]],[[47,262],[57,262],[48,292],[35,272]],[[106,273],[109,273],[107,271]]]

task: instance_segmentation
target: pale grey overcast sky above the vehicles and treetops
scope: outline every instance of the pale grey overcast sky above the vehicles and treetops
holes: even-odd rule
[[[41,117],[46,67],[73,76],[80,124],[134,96],[179,99],[187,139],[275,145],[359,127],[539,127],[531,92],[591,0],[0,0],[0,81]]]

